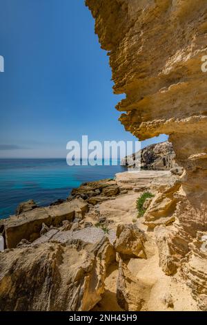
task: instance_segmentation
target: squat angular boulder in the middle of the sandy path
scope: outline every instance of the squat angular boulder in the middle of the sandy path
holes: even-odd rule
[[[128,259],[130,257],[145,258],[145,241],[146,236],[144,232],[139,230],[136,225],[118,225],[115,249],[120,254],[121,259]]]

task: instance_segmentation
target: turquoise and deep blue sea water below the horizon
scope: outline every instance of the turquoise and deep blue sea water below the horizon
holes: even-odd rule
[[[17,205],[30,198],[49,205],[67,198],[81,183],[114,178],[124,170],[119,165],[69,167],[66,159],[0,159],[0,219],[14,214]]]

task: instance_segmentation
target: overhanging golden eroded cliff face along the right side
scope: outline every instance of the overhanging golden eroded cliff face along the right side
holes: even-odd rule
[[[176,162],[185,169],[175,191],[175,232],[170,236],[181,263],[197,232],[207,231],[207,78],[201,71],[207,3],[86,0],[86,5],[101,47],[109,52],[114,91],[126,93],[117,104],[124,112],[121,123],[139,140],[168,134]]]

